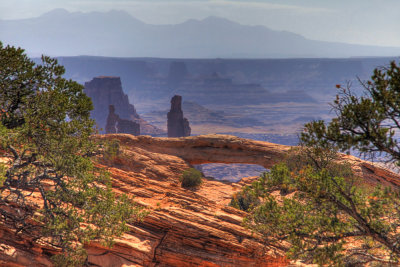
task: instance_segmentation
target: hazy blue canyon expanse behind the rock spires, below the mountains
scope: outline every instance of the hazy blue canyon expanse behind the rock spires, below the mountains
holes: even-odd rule
[[[336,84],[352,84],[352,90],[360,93],[362,86],[357,77],[366,81],[376,66],[386,66],[390,60],[397,59],[79,56],[59,57],[58,60],[66,68],[66,77],[81,84],[102,75],[120,77],[124,94],[140,118],[164,133],[153,134],[150,130],[145,133],[141,124],[142,134],[166,136],[166,115],[174,95],[181,95],[184,100],[182,109],[190,121],[192,135],[296,135],[306,122],[332,118],[334,114],[328,103],[338,93]],[[40,63],[40,59],[35,62]],[[118,105],[106,104],[102,106],[105,113],[108,104]]]

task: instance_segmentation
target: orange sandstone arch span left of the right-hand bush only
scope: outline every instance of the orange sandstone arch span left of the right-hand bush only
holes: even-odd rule
[[[125,144],[147,151],[182,158],[190,164],[243,163],[270,168],[281,161],[290,146],[254,141],[230,135],[200,135],[184,138],[111,135]]]

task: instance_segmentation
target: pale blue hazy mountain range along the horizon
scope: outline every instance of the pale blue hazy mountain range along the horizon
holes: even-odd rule
[[[398,47],[308,40],[301,35],[208,17],[150,25],[124,11],[70,13],[0,20],[0,41],[29,55],[168,58],[307,58],[399,56]]]

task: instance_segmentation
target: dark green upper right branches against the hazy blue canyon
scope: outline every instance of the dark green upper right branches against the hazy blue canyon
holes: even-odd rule
[[[370,81],[360,83],[364,88],[360,97],[349,86],[338,85],[340,91],[333,103],[337,117],[329,124],[306,124],[301,139],[305,144],[331,145],[342,151],[355,149],[372,157],[385,152],[398,162],[400,67],[393,61],[388,67],[375,69]]]

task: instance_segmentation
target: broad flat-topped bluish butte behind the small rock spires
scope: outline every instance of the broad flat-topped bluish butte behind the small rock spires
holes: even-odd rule
[[[99,76],[85,83],[85,93],[92,99],[92,118],[99,128],[105,129],[108,107],[114,105],[115,114],[121,119],[140,124],[142,134],[162,134],[163,130],[150,125],[140,118],[135,107],[129,103],[128,96],[123,92],[120,77]]]

